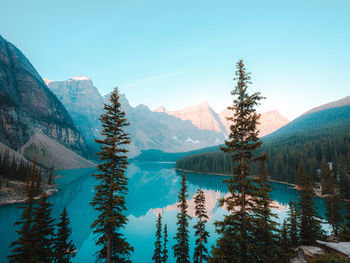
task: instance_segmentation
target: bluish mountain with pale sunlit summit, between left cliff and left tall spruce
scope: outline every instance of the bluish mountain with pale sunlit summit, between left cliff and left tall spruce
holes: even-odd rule
[[[98,138],[101,132],[98,117],[103,111],[103,98],[91,79],[75,76],[65,81],[45,81],[66,107],[87,143]]]

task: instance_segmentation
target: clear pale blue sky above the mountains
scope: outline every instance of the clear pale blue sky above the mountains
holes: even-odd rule
[[[243,58],[260,111],[293,119],[350,95],[349,0],[0,0],[0,34],[42,77],[90,77],[131,105],[231,102]]]

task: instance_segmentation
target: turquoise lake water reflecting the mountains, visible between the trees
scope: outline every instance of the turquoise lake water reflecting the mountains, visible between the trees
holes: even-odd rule
[[[129,192],[126,214],[129,222],[125,228],[125,235],[128,242],[135,248],[131,258],[132,262],[152,262],[155,223],[159,212],[162,212],[163,223],[168,225],[168,262],[175,262],[171,247],[174,245],[173,237],[176,233],[176,214],[178,212],[176,202],[181,173],[175,171],[173,167],[174,163],[133,163],[128,168]],[[60,178],[56,182],[60,191],[49,198],[49,201],[54,204],[53,217],[58,218],[63,207],[66,207],[71,218],[72,239],[78,248],[73,262],[95,262],[94,253],[97,249],[90,225],[97,215],[89,205],[96,183],[95,178],[91,175],[95,172],[95,168],[58,171]],[[199,187],[204,190],[210,219],[207,224],[210,232],[208,247],[210,247],[215,244],[217,238],[213,223],[215,220],[221,220],[225,213],[224,209],[218,207],[217,202],[227,194],[227,187],[222,183],[224,177],[187,173],[186,178],[191,216],[194,216],[193,196]],[[286,216],[289,201],[298,198],[297,192],[287,188],[287,185],[274,183],[272,197],[276,206],[274,212],[279,217],[278,221],[281,222]],[[323,200],[316,198],[315,203],[319,213],[324,216]],[[0,262],[7,262],[6,256],[10,253],[9,244],[17,238],[13,226],[21,213],[21,210],[16,208],[17,206],[0,207]],[[190,227],[194,224],[195,220],[192,219]],[[191,229],[191,256],[195,240],[193,234],[194,231]]]

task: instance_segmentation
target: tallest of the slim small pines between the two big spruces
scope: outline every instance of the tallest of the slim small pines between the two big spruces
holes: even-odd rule
[[[180,212],[177,214],[177,232],[175,236],[176,244],[173,246],[174,257],[177,263],[189,263],[189,230],[188,230],[188,220],[190,216],[187,214],[187,185],[186,176],[182,174],[181,189],[177,195],[179,198],[179,203],[177,207]]]

